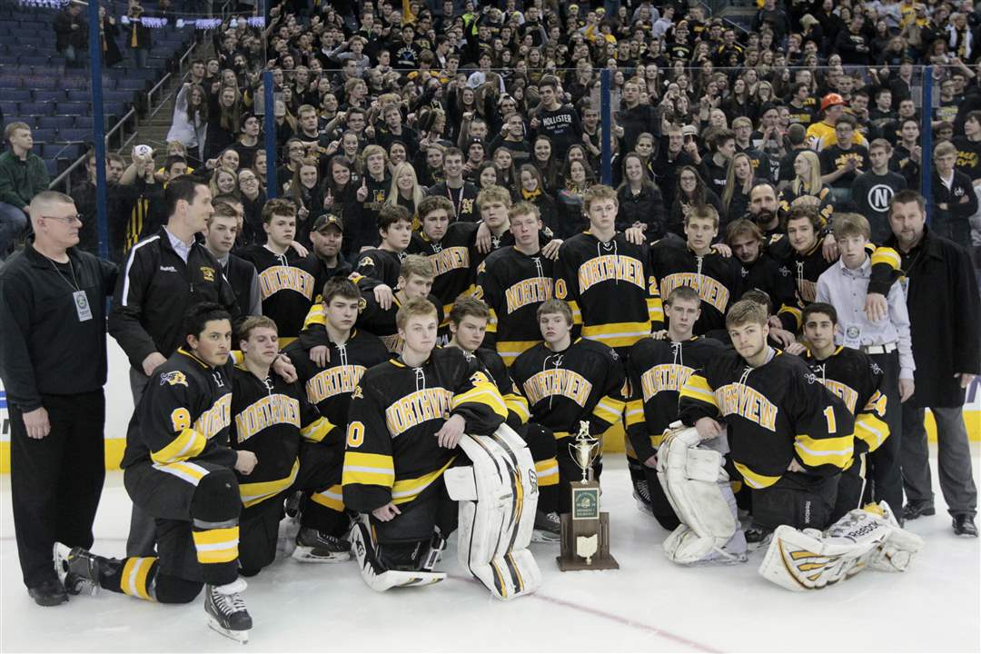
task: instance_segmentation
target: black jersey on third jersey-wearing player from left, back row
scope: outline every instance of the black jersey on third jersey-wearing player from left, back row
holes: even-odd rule
[[[433,264],[433,295],[441,302],[443,316],[449,316],[456,297],[471,290],[475,267],[471,266],[477,251],[476,223],[450,223],[439,241],[432,241],[422,232],[413,234],[406,250],[421,254]],[[439,321],[443,325],[443,321]]]

